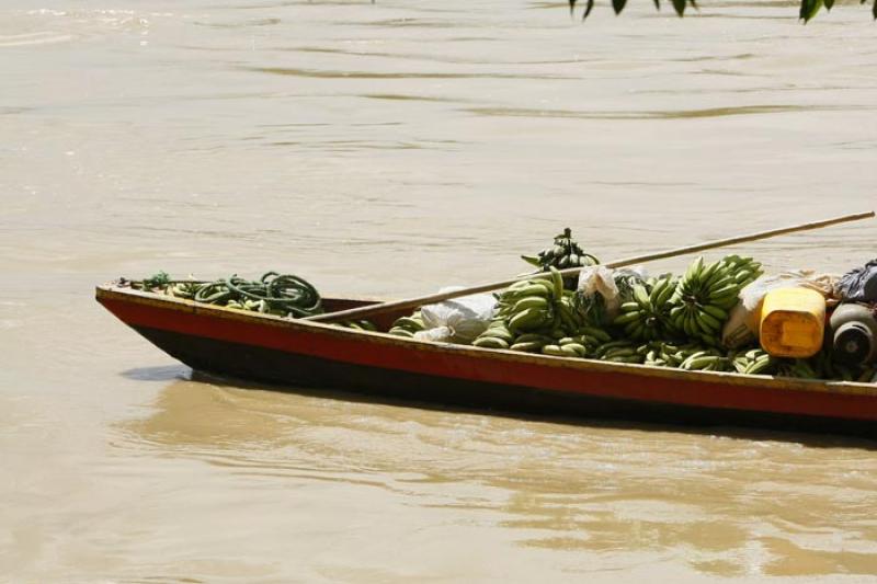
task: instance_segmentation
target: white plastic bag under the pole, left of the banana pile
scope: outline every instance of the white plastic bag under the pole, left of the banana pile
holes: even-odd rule
[[[441,291],[459,290],[459,287]],[[497,299],[492,294],[475,294],[426,305],[420,309],[426,329],[414,333],[414,339],[440,343],[470,344],[485,332],[493,318]]]

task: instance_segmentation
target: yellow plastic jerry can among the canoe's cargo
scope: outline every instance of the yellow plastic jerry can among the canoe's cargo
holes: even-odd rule
[[[825,298],[809,288],[779,288],[764,297],[759,339],[775,357],[811,357],[822,348]]]

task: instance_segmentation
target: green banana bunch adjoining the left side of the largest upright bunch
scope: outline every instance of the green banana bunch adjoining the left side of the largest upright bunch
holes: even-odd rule
[[[671,275],[634,284],[630,300],[622,304],[613,324],[638,341],[665,337],[672,308],[670,298],[675,289],[676,279]]]

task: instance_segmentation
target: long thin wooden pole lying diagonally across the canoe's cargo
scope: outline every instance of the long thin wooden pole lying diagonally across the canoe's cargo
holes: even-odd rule
[[[745,236],[737,236],[732,238],[726,239],[717,239],[715,241],[707,241],[705,243],[696,243],[694,245],[686,245],[684,248],[674,248],[672,250],[664,250],[657,253],[648,253],[646,255],[636,255],[634,257],[625,257],[624,260],[618,260],[608,264],[603,264],[607,267],[624,267],[627,265],[633,264],[641,264],[645,262],[651,262],[654,260],[662,260],[664,257],[674,257],[676,255],[684,255],[686,253],[695,253],[698,251],[704,250],[713,250],[716,248],[724,248],[726,245],[733,245],[737,243],[745,243],[749,241],[758,241],[760,239],[767,239],[773,238],[776,236],[783,236],[786,233],[797,233],[799,231],[809,231],[811,229],[821,229],[823,227],[829,227],[832,225],[838,224],[845,224],[850,221],[858,221],[862,219],[869,219],[874,217],[874,211],[865,211],[865,213],[856,213],[853,215],[844,215],[841,217],[834,217],[832,219],[823,219],[821,221],[813,221],[809,224],[801,224],[801,225],[794,225],[789,227],[783,227],[779,229],[770,229],[767,231],[759,231],[755,233],[749,233]],[[568,267],[566,270],[561,270],[560,273],[565,276],[570,276],[573,274],[578,274],[582,270],[581,266],[577,267]],[[441,302],[443,300],[449,300],[452,298],[459,298],[460,296],[468,296],[470,294],[479,294],[490,290],[496,290],[498,288],[506,288],[519,282],[521,279],[532,279],[537,277],[548,277],[549,274],[547,272],[540,272],[536,274],[527,274],[524,276],[519,276],[512,279],[503,279],[500,282],[489,282],[487,284],[479,284],[478,286],[470,286],[468,288],[463,288],[459,290],[447,291],[447,293],[440,293],[440,294],[431,294],[429,296],[420,296],[418,298],[408,298],[406,300],[392,300],[389,302],[380,302],[377,305],[368,305],[364,307],[351,308],[348,310],[339,310],[338,312],[327,312],[323,314],[316,314],[314,317],[306,317],[305,320],[312,320],[312,321],[320,321],[320,322],[335,322],[339,320],[350,320],[350,319],[362,319],[367,317],[373,317],[375,314],[380,314],[384,312],[389,312],[392,310],[402,310],[407,308],[414,308],[424,305],[431,305],[434,302]]]

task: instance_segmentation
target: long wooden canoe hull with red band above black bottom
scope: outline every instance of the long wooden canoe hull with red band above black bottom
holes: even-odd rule
[[[605,363],[397,337],[99,286],[96,299],[196,370],[413,402],[877,438],[877,385]],[[328,310],[369,304],[326,299]],[[386,314],[388,325],[401,314]]]

